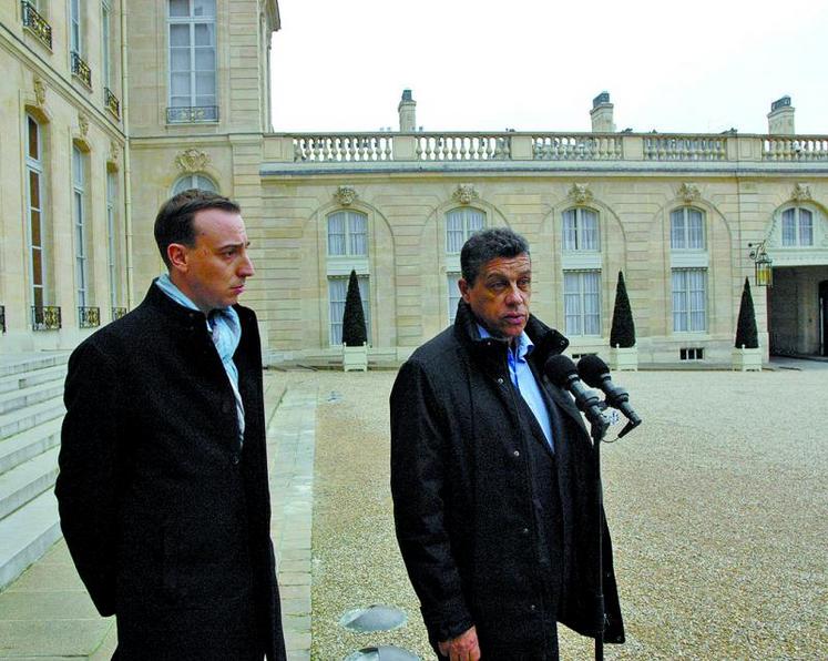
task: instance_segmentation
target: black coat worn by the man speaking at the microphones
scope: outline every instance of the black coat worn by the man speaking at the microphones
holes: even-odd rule
[[[535,374],[568,340],[530,317]],[[603,531],[604,640],[623,642],[609,529],[599,517],[592,443],[572,397],[543,376],[562,504],[556,613],[539,580],[543,531],[507,363],[505,342],[481,339],[460,302],[454,326],[400,368],[391,391],[391,491],[402,558],[432,641],[471,624],[485,659],[549,659],[544,622],[595,637],[601,627],[597,530]]]

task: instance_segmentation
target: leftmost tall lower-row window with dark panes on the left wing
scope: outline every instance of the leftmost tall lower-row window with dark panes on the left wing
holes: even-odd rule
[[[43,132],[34,118],[25,115],[25,194],[29,238],[29,276],[31,304],[47,305],[47,254],[43,194]]]

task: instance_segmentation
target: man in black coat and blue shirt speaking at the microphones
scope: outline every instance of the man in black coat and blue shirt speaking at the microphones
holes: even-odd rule
[[[558,621],[623,642],[592,444],[543,375],[569,343],[529,314],[529,246],[487,230],[460,263],[454,326],[413,353],[390,400],[397,539],[430,642],[451,661],[551,661]]]

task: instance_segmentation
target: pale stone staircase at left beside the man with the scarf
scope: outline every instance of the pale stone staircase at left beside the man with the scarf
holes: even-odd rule
[[[68,358],[0,357],[0,590],[61,537],[53,487]]]

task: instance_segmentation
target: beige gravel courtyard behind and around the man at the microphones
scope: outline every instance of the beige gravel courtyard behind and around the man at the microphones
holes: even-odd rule
[[[379,644],[431,658],[393,538],[395,373],[284,376],[319,397],[313,658]],[[602,451],[627,630],[606,658],[828,659],[828,370],[615,376],[644,424]],[[379,634],[338,626],[374,603],[402,609],[408,624]],[[562,659],[592,658],[591,640],[560,634]]]

